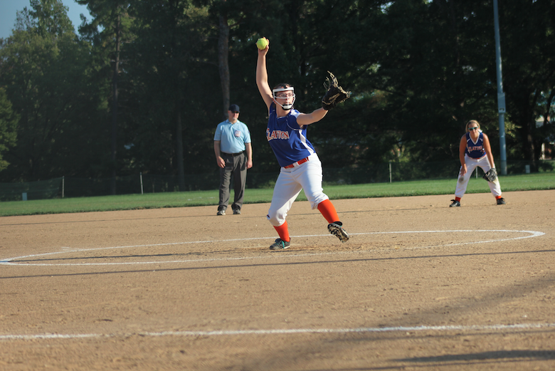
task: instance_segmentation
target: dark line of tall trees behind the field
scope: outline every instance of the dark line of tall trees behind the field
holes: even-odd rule
[[[31,0],[0,40],[0,182],[213,172],[213,131],[230,103],[265,140],[255,41],[270,39],[270,85],[319,106],[331,70],[352,98],[309,129],[325,167],[456,160],[479,120],[495,156],[492,1]],[[499,2],[509,160],[554,140],[555,1]],[[536,120],[543,117],[543,125]],[[116,192],[115,183],[112,192]]]

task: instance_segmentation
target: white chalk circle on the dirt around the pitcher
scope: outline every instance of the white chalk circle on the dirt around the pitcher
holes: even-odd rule
[[[364,232],[364,233],[351,233],[350,236],[357,235],[370,235],[370,234],[423,234],[423,233],[476,233],[476,232],[498,232],[498,233],[527,233],[529,236],[519,236],[511,237],[507,239],[490,239],[485,241],[470,241],[470,242],[458,242],[455,244],[442,244],[442,245],[430,245],[430,246],[416,246],[416,247],[404,247],[404,248],[392,248],[392,249],[380,249],[379,251],[390,251],[390,250],[417,250],[417,249],[432,249],[438,247],[450,247],[450,246],[462,246],[470,244],[487,244],[492,242],[501,241],[512,241],[518,239],[530,239],[532,237],[543,236],[544,232],[539,231],[511,231],[507,229],[468,229],[468,230],[448,230],[448,231],[389,231],[389,232]],[[292,236],[294,238],[303,237],[322,237],[330,236],[328,234],[316,234],[316,235],[305,235],[305,236]],[[362,250],[362,251],[334,251],[334,252],[324,252],[324,253],[305,253],[305,254],[286,254],[286,255],[268,255],[268,256],[243,256],[238,258],[199,258],[199,259],[186,259],[186,260],[172,260],[172,261],[122,261],[122,262],[112,262],[112,263],[26,263],[17,262],[19,259],[24,258],[37,258],[43,256],[52,256],[57,254],[68,254],[72,252],[85,252],[85,251],[99,251],[99,250],[111,250],[111,249],[132,249],[140,247],[155,247],[155,246],[171,246],[171,245],[185,245],[185,244],[213,244],[231,241],[252,241],[260,239],[275,239],[274,237],[255,237],[248,239],[224,239],[224,240],[208,240],[208,241],[186,241],[186,242],[172,242],[168,244],[147,244],[147,245],[130,245],[130,246],[111,246],[111,247],[100,247],[94,249],[71,249],[68,247],[63,247],[63,251],[56,251],[46,254],[33,254],[26,256],[16,256],[14,258],[4,258],[0,260],[0,265],[5,266],[121,266],[121,265],[145,265],[145,264],[169,264],[169,263],[196,263],[196,262],[207,262],[207,261],[242,261],[242,260],[253,260],[253,259],[268,259],[268,258],[297,258],[302,256],[324,256],[324,255],[337,255],[337,254],[366,254],[376,252],[376,250]]]

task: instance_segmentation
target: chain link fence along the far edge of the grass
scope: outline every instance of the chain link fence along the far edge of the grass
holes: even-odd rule
[[[324,168],[324,184],[368,184],[404,182],[418,179],[456,178],[458,161],[448,162],[390,162],[369,167]],[[477,168],[478,177],[483,175]],[[507,175],[536,172],[555,172],[554,160],[507,161]],[[219,187],[219,171],[203,174],[186,174],[183,191],[213,190]],[[273,188],[277,172],[260,173],[250,170],[247,188]],[[64,197],[107,196],[112,192],[112,178],[60,177],[38,182],[0,183],[1,201],[54,199]],[[231,183],[233,184],[233,182]],[[176,175],[135,174],[116,177],[116,194],[145,194],[179,192]]]

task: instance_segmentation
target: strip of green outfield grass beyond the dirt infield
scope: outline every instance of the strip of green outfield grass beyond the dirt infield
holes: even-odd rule
[[[276,174],[277,176],[277,174]],[[555,189],[554,173],[523,174],[499,178],[503,192]],[[330,199],[357,199],[371,197],[407,197],[431,194],[453,195],[457,179],[417,180],[352,185],[325,185],[324,192]],[[270,202],[273,189],[247,189],[245,204]],[[487,193],[487,182],[472,177],[468,193]],[[231,194],[233,197],[233,192]],[[305,201],[303,192],[297,198]],[[163,207],[192,207],[218,204],[218,190],[196,192],[164,192],[125,194],[121,196],[78,197],[70,199],[40,199],[0,202],[0,216],[59,214],[85,211],[110,211],[131,209],[159,209]]]

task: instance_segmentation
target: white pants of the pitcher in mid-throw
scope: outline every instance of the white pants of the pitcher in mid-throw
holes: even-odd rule
[[[315,153],[310,155],[305,163],[290,169],[281,168],[280,175],[275,181],[272,204],[266,215],[270,224],[280,226],[285,223],[287,212],[301,189],[305,190],[312,209],[316,209],[320,202],[329,199],[322,189],[322,162]]]

